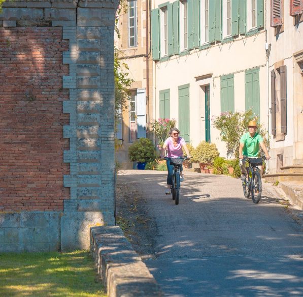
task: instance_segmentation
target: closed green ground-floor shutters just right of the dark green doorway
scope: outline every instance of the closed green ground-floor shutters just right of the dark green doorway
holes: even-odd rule
[[[221,76],[221,112],[234,112],[233,74]]]

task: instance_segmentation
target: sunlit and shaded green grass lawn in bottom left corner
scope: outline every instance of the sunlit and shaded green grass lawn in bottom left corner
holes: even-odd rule
[[[91,254],[0,254],[0,296],[106,296]]]

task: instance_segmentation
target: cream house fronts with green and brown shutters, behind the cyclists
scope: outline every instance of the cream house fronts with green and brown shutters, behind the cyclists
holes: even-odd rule
[[[283,13],[279,25],[273,23],[277,3]],[[194,146],[203,140],[214,142],[224,157],[225,143],[212,118],[252,108],[268,130],[270,172],[277,172],[277,158],[284,158],[283,165],[302,164],[301,8],[300,0],[155,1],[151,11],[155,117],[176,118],[187,142]],[[286,88],[278,77],[282,75],[284,83],[284,66]],[[282,106],[281,92],[287,93]]]

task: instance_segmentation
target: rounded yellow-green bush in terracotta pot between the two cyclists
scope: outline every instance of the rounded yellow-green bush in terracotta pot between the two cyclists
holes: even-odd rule
[[[208,170],[207,165],[213,164],[216,157],[219,156],[215,143],[206,141],[200,142],[192,152],[192,161],[200,165],[201,172]]]

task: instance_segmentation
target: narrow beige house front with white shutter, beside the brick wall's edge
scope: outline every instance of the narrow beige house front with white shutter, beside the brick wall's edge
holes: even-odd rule
[[[153,61],[150,46],[150,6],[148,1],[126,1],[128,11],[118,16],[120,38],[115,35],[115,46],[121,62],[128,66],[128,107],[117,125],[118,151],[116,159],[121,168],[133,168],[128,158],[128,147],[139,138],[151,137],[153,120]]]

